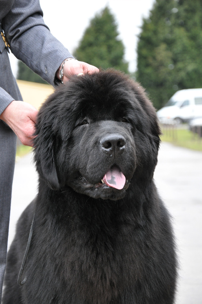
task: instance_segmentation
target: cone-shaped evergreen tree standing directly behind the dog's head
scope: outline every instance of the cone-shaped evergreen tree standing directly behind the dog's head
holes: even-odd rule
[[[74,55],[96,67],[114,67],[128,73],[128,63],[123,59],[124,45],[118,35],[114,16],[106,7],[91,20]]]

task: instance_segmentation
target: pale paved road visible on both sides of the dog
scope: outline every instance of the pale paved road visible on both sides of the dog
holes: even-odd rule
[[[155,181],[169,209],[179,255],[176,304],[202,304],[202,153],[162,143]],[[31,155],[16,163],[9,244],[16,219],[37,192]]]

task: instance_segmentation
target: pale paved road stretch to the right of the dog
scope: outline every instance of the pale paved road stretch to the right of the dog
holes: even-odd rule
[[[202,153],[163,143],[155,170],[179,251],[177,304],[202,303]]]

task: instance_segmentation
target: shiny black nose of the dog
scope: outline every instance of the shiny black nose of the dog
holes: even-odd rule
[[[120,134],[108,134],[101,138],[101,147],[110,154],[111,157],[114,154],[120,153],[124,150],[126,145],[126,139]]]

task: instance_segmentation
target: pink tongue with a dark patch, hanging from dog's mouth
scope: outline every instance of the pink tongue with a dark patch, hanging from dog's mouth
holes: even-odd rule
[[[123,189],[126,178],[119,168],[112,167],[103,177],[103,181],[109,187]]]

